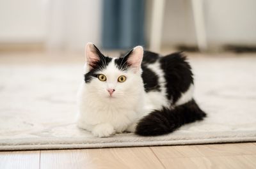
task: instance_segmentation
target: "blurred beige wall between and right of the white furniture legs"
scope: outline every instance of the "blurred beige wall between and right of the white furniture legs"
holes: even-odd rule
[[[196,44],[191,1],[166,1],[163,45]],[[255,6],[255,0],[205,0],[205,27],[210,47],[256,45]]]

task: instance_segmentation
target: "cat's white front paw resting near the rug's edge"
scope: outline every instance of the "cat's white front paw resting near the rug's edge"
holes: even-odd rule
[[[98,137],[108,137],[111,136],[115,133],[115,129],[111,124],[108,123],[103,123],[103,124],[98,124],[93,128],[92,133],[94,136]]]

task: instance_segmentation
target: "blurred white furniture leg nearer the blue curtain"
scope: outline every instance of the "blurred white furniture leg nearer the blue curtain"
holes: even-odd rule
[[[154,52],[159,52],[161,48],[164,4],[165,0],[153,0],[149,49]]]

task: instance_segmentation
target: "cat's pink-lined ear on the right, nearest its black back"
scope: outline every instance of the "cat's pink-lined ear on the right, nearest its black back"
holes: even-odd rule
[[[143,59],[143,47],[134,47],[132,51],[127,54],[127,57],[129,67],[132,68],[134,72],[137,72],[138,70],[140,70],[141,61]]]

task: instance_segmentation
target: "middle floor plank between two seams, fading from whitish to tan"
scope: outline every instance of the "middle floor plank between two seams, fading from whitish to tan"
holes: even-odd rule
[[[41,151],[40,169],[163,168],[148,147]]]

